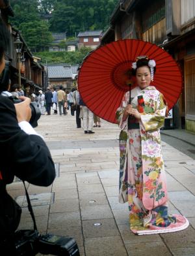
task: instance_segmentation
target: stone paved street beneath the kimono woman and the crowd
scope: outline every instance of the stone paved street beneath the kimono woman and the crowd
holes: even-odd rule
[[[169,210],[185,215],[190,226],[136,236],[129,231],[127,204],[118,203],[118,126],[102,121],[93,135],[85,135],[70,112],[42,116],[38,124],[57,170],[49,187],[28,185],[41,233],[72,236],[82,256],[195,255],[195,160],[162,142]],[[23,207],[19,229],[32,228],[23,184],[16,180],[8,191]]]

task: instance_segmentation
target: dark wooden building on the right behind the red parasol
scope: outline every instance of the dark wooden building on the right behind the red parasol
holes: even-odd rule
[[[140,39],[167,50],[181,67],[183,91],[174,107],[174,127],[195,133],[195,0],[121,0],[101,44]]]

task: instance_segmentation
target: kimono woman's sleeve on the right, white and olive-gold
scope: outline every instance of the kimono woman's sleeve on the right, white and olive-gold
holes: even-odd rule
[[[146,131],[156,131],[164,125],[164,118],[166,116],[167,104],[164,101],[162,93],[159,93],[157,102],[155,102],[156,110],[153,113],[140,114],[142,124]]]

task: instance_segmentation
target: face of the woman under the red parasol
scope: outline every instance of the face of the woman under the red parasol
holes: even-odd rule
[[[138,67],[136,70],[136,82],[140,89],[144,89],[150,85],[151,74],[148,66]]]

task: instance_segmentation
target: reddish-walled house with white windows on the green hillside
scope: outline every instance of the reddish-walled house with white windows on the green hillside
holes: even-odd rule
[[[77,35],[79,38],[78,48],[81,48],[82,46],[90,47],[92,49],[97,48],[100,43],[101,35],[102,30],[79,32]]]

